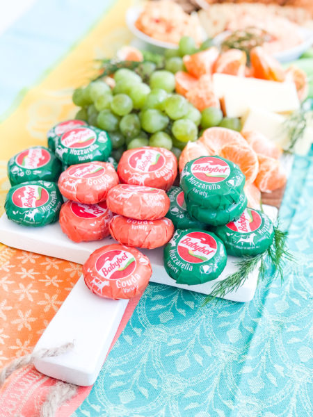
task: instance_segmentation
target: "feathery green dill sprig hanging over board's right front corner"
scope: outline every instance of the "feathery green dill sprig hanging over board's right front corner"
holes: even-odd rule
[[[273,242],[268,249],[262,254],[257,256],[241,259],[235,263],[238,268],[236,272],[228,275],[223,281],[218,281],[205,300],[203,305],[215,300],[216,297],[223,298],[227,293],[231,291],[237,291],[240,286],[248,279],[250,273],[259,268],[259,280],[264,277],[266,272],[266,261],[269,261],[273,268],[273,279],[280,277],[283,280],[283,266],[284,262],[294,262],[294,256],[289,252],[287,248],[287,231],[281,231],[278,226],[274,226]]]

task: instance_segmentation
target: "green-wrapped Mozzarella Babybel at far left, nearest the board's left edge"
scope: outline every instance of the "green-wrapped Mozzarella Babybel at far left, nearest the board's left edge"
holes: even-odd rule
[[[63,197],[54,182],[27,181],[10,188],[6,215],[24,226],[45,226],[58,220]]]

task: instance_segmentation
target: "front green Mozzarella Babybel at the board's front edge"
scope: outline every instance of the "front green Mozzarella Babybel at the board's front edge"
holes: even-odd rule
[[[223,272],[226,262],[220,238],[201,229],[177,230],[164,247],[164,268],[177,284],[212,281]]]

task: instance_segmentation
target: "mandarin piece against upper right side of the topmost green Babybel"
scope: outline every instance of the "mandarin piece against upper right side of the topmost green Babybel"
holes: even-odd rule
[[[239,146],[236,142],[231,142],[220,149],[220,156],[236,163],[241,172],[246,177],[246,183],[252,183],[257,178],[259,171],[259,161],[257,154],[249,146]]]

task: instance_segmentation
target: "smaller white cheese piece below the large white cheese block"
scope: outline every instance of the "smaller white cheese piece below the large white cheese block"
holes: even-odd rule
[[[287,149],[289,138],[286,129],[284,129],[286,118],[286,116],[264,110],[264,108],[251,107],[243,120],[242,130],[263,133],[266,138]]]

